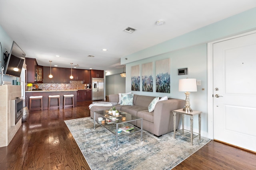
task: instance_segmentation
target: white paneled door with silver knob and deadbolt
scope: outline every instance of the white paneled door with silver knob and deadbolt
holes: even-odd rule
[[[214,139],[256,152],[256,33],[213,44],[213,88]]]

